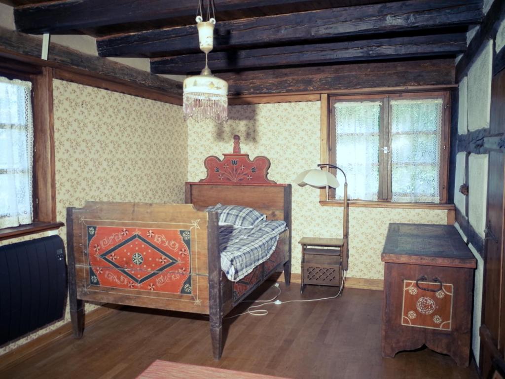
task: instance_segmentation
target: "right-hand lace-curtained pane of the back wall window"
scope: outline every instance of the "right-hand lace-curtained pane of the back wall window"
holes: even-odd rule
[[[392,201],[440,201],[441,129],[441,99],[391,101]]]

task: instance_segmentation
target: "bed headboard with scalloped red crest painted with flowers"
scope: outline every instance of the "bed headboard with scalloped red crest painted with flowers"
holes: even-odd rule
[[[223,159],[205,159],[205,179],[186,182],[185,202],[199,210],[217,203],[251,207],[269,220],[284,220],[290,226],[291,184],[269,179],[270,160],[264,156],[249,159],[240,153],[240,137],[235,135],[233,140],[233,153],[223,154]]]

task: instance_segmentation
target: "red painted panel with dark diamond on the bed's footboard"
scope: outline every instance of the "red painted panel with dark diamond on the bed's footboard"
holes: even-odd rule
[[[191,231],[87,226],[93,286],[191,294]]]

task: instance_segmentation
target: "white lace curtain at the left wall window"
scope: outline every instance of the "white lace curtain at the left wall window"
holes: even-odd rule
[[[31,82],[0,76],[0,228],[32,222]]]

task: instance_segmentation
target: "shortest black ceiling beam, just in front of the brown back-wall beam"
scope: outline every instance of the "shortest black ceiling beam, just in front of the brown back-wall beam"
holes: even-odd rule
[[[216,72],[226,72],[276,66],[456,55],[465,52],[466,46],[466,33],[365,39],[211,53],[209,67]],[[203,54],[156,58],[151,60],[151,72],[193,74],[201,71],[204,62]]]

